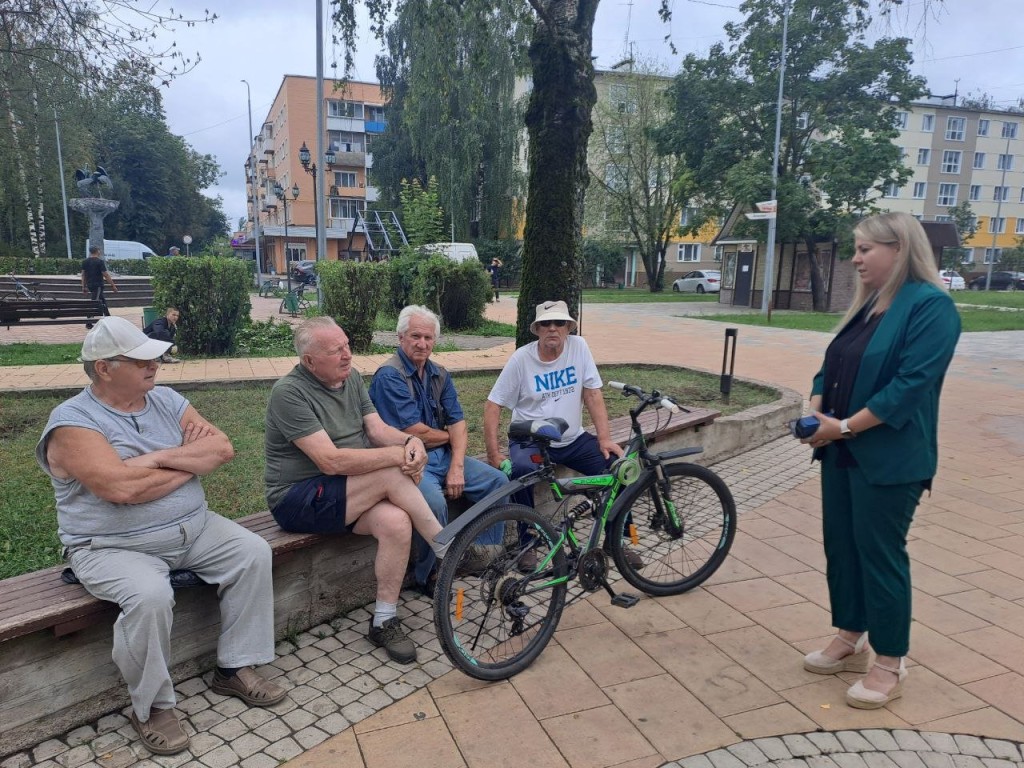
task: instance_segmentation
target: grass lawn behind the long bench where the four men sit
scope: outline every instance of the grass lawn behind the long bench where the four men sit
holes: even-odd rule
[[[771,402],[775,393],[734,382],[730,402],[720,402],[718,377],[679,369],[602,367],[607,380],[625,381],[644,389],[656,388],[681,403],[716,408],[723,414]],[[482,403],[495,374],[458,375],[456,384],[466,411],[469,453],[484,451]],[[236,459],[203,478],[210,507],[227,517],[240,517],[266,508],[263,500],[263,417],[268,387],[187,392],[200,413],[231,438]],[[31,393],[0,394],[0,466],[6,493],[0,498],[0,579],[55,565],[60,561],[56,512],[49,479],[35,461],[35,446],[50,411],[65,396]],[[633,398],[607,390],[612,417],[626,415]],[[503,411],[507,426],[508,412]]]

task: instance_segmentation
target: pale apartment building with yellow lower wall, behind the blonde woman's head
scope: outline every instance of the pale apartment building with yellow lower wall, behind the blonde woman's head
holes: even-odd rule
[[[964,241],[964,270],[981,273],[1024,237],[1024,114],[929,99],[899,114],[898,142],[913,175],[877,201],[922,221],[951,221],[965,202],[977,230]]]

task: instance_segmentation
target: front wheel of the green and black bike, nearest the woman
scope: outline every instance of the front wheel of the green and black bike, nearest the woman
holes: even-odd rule
[[[697,464],[666,464],[668,493],[647,473],[623,500],[611,526],[618,572],[648,595],[678,595],[702,584],[729,554],[736,504],[722,478]],[[632,515],[629,513],[632,512]],[[624,545],[639,555],[626,557]]]

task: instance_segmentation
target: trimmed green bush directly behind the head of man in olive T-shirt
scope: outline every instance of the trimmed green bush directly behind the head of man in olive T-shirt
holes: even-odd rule
[[[317,265],[322,310],[348,335],[353,352],[368,352],[374,340],[374,323],[388,291],[384,263],[325,261]]]

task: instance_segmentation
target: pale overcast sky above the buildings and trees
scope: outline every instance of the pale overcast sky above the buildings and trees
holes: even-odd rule
[[[655,58],[674,72],[685,53],[706,53],[725,39],[723,25],[741,18],[738,5],[739,0],[673,0],[674,17],[667,26],[657,18],[658,0],[602,0],[594,30],[597,66],[606,69],[621,60],[628,39],[639,56]],[[923,0],[904,0],[904,5],[888,33],[913,38],[913,72],[927,78],[933,93],[985,92],[1004,105],[1024,95],[1022,0],[945,0],[944,9],[928,16]],[[243,164],[250,135],[241,81],[250,83],[253,126],[258,130],[285,75],[316,74],[315,3],[179,0],[173,6],[186,16],[201,16],[204,8],[219,16],[212,25],[176,30],[179,48],[189,55],[198,51],[202,61],[164,89],[164,106],[171,131],[220,164],[224,175],[208,194],[223,198],[233,228],[246,213]],[[325,77],[331,77],[341,74],[344,53],[332,45],[326,29]],[[873,33],[886,34],[885,24],[877,20]],[[664,42],[666,35],[672,36],[677,55]],[[377,41],[364,35],[353,79],[376,80],[377,51]]]

